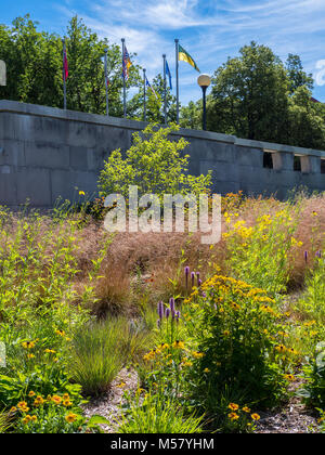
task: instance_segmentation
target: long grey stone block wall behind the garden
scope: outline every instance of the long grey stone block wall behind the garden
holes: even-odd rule
[[[82,190],[96,194],[103,160],[115,148],[126,151],[144,122],[0,101],[0,204],[51,207],[75,199]],[[190,172],[213,171],[213,191],[273,194],[284,198],[299,185],[325,191],[321,159],[325,152],[248,141],[212,132],[181,130],[191,142]],[[271,152],[273,169],[263,168]],[[301,171],[294,171],[294,156]],[[324,167],[323,167],[324,169]]]

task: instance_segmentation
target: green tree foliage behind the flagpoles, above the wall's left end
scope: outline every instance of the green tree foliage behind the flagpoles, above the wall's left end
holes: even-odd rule
[[[69,21],[65,35],[69,66],[67,108],[106,113],[102,58],[107,48],[109,110],[110,115],[121,116],[120,48],[106,38],[100,39],[77,16]],[[38,23],[28,14],[17,17],[11,28],[0,26],[0,57],[8,68],[8,86],[1,87],[2,99],[63,107],[61,37],[38,31]],[[127,89],[136,87],[139,80],[139,66],[134,64]],[[129,114],[132,116],[131,110]]]

